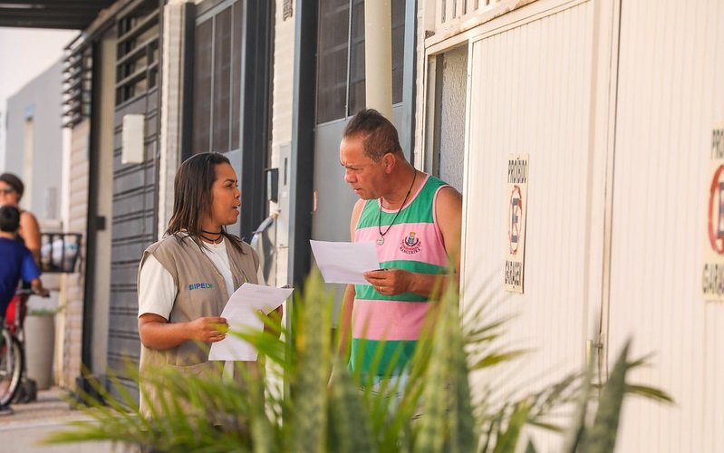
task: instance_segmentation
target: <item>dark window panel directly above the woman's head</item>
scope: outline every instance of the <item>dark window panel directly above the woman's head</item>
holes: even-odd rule
[[[196,25],[194,153],[239,147],[242,5],[214,11]]]

